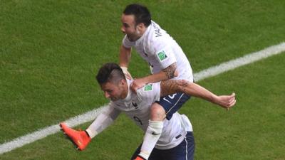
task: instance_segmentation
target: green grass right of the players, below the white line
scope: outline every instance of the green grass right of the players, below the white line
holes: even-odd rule
[[[284,60],[283,53],[201,82],[236,92],[237,105],[225,112],[199,100],[191,108],[197,159],[285,159]]]

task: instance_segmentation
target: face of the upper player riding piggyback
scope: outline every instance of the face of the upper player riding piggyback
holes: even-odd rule
[[[120,30],[126,34],[130,41],[136,41],[141,36],[141,32],[138,29],[138,26],[135,25],[135,16],[134,15],[125,15],[121,17],[122,27]]]

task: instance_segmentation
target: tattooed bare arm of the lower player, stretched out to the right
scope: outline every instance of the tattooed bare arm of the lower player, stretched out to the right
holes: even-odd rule
[[[172,95],[175,92],[185,92],[187,95],[202,98],[227,109],[236,103],[234,93],[218,96],[195,82],[188,82],[187,80],[165,80],[161,82],[160,87],[161,97]]]

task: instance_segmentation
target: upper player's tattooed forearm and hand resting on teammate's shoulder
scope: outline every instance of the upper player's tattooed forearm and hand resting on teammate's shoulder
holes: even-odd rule
[[[148,75],[144,78],[135,79],[130,85],[130,87],[134,92],[136,92],[136,90],[138,90],[140,87],[145,86],[147,83],[160,82],[162,80],[169,80],[171,78],[175,78],[178,75],[176,68],[176,63],[172,63],[167,68],[161,70],[159,73]]]

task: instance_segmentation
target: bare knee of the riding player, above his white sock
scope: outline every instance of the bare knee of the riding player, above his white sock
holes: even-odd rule
[[[150,120],[162,121],[165,119],[165,109],[158,103],[153,103],[150,107]]]

